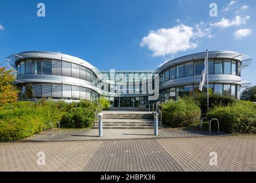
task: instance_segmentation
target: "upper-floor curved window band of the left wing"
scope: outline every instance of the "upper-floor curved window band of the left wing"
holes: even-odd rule
[[[31,73],[63,75],[72,78],[84,79],[94,85],[98,83],[98,78],[92,70],[82,65],[67,61],[35,58],[18,61],[16,65],[18,75]]]

